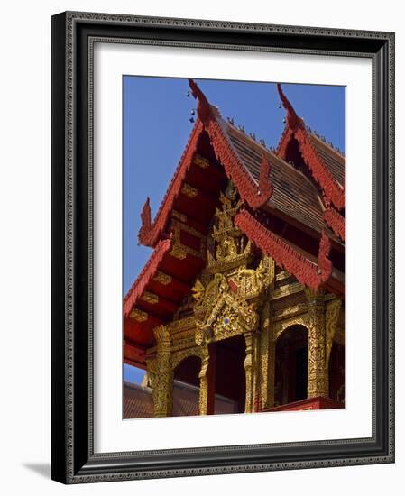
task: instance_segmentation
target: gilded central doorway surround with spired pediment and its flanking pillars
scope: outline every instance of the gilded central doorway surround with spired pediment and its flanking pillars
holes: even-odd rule
[[[246,356],[245,411],[254,411],[261,403],[259,363],[261,360],[258,305],[262,296],[274,283],[274,262],[263,257],[255,268],[248,268],[253,260],[252,244],[234,225],[234,216],[242,203],[235,188],[228,188],[220,197],[221,208],[216,209],[216,221],[211,233],[213,250],[207,250],[207,271],[214,277],[196,280],[192,289],[196,317],[196,343],[207,344],[234,335],[244,335]],[[200,372],[200,412],[207,412],[207,369],[209,358],[203,359]],[[267,372],[266,372],[267,375]]]

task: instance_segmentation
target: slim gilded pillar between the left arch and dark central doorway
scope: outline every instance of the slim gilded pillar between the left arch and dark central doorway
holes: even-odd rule
[[[199,372],[199,414],[214,415],[216,396],[216,344],[207,344]]]

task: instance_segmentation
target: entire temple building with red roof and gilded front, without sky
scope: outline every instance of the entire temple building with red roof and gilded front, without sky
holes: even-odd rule
[[[179,165],[124,234],[149,258],[124,290],[139,380],[124,372],[123,418],[345,408],[345,153],[285,85],[266,83],[283,119],[270,147],[188,84]]]

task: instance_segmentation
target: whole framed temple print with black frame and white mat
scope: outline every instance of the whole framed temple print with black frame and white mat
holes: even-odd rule
[[[54,480],[394,461],[393,60],[52,17]]]

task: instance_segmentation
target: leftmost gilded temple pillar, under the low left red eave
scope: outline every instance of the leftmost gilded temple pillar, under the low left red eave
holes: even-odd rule
[[[170,332],[166,326],[157,326],[153,333],[157,343],[156,359],[147,362],[152,385],[153,417],[170,417],[173,408]]]

